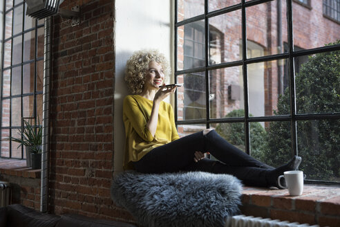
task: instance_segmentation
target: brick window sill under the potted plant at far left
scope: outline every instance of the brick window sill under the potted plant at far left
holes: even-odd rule
[[[41,170],[26,167],[26,160],[0,158],[0,174],[39,179]]]

